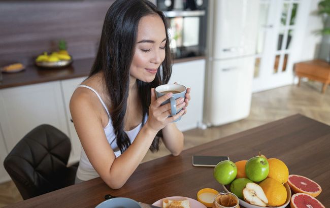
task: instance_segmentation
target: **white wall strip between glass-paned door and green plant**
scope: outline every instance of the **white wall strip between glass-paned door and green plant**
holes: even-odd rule
[[[322,36],[315,34],[315,31],[323,28],[321,17],[316,15],[317,5],[320,0],[312,0],[310,5],[309,16],[306,21],[305,36],[302,43],[302,51],[300,54],[300,60],[311,60],[317,58],[319,52],[319,45],[321,43]]]

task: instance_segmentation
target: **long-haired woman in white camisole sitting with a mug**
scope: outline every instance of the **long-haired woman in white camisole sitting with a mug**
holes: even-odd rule
[[[173,155],[181,153],[183,134],[171,122],[186,113],[190,89],[173,117],[170,104],[160,106],[172,94],[156,99],[154,90],[172,73],[167,29],[146,0],[118,0],[108,10],[90,75],[70,101],[83,147],[76,183],[100,176],[119,189],[160,138]]]

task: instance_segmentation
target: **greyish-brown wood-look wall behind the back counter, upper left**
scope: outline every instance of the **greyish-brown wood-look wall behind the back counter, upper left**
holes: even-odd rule
[[[0,66],[31,64],[64,39],[74,59],[93,57],[114,0],[1,1]]]

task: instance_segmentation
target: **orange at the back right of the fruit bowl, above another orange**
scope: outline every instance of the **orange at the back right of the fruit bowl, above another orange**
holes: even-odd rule
[[[289,169],[285,163],[276,158],[270,158],[267,161],[269,164],[269,174],[267,178],[275,179],[281,184],[286,183],[289,178]]]

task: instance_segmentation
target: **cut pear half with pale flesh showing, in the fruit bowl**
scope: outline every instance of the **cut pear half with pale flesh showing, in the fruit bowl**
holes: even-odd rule
[[[266,207],[268,199],[262,188],[255,183],[247,183],[243,189],[244,200],[250,204]]]

